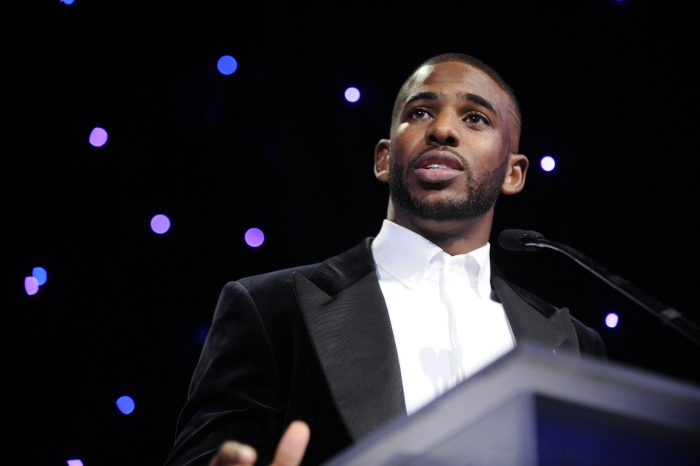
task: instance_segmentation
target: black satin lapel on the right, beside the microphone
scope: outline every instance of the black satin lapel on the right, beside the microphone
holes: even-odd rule
[[[569,310],[557,308],[511,286],[494,274],[491,286],[503,304],[516,342],[534,341],[552,349],[579,353],[578,337]]]

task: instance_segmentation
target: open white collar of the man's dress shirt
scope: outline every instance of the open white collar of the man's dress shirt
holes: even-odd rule
[[[446,264],[460,271],[482,299],[491,296],[490,244],[466,254],[450,256],[438,245],[408,228],[384,219],[372,242],[372,255],[378,267],[408,288],[420,280],[436,281]]]

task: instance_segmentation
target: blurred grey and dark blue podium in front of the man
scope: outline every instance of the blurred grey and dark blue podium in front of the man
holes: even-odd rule
[[[698,466],[700,387],[520,344],[325,463],[399,465]]]

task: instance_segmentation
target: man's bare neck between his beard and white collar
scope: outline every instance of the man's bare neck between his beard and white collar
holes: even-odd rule
[[[478,218],[427,220],[395,208],[389,203],[387,219],[418,233],[452,256],[466,254],[485,245],[491,234],[493,208]]]

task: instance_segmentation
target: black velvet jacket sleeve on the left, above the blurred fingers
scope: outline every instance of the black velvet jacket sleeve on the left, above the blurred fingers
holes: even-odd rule
[[[221,291],[166,466],[207,465],[225,440],[269,464],[282,430],[278,368],[258,308],[239,282]]]

